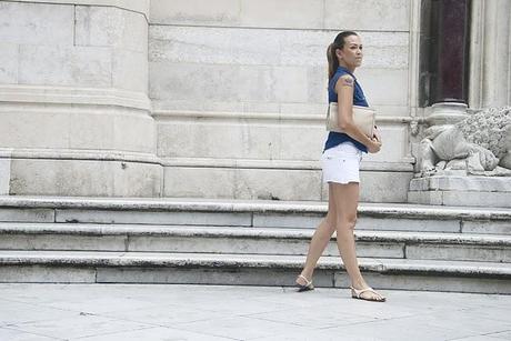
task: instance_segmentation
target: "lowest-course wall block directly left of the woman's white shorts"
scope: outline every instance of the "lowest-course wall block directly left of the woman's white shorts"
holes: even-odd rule
[[[315,170],[238,169],[237,199],[320,200],[321,172]]]

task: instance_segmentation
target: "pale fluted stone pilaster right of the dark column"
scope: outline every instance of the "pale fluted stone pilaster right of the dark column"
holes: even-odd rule
[[[472,2],[470,96],[473,109],[509,106],[511,101],[510,0]]]

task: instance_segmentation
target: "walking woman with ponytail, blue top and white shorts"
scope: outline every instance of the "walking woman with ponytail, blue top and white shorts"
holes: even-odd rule
[[[377,153],[381,148],[378,130],[368,138],[353,123],[353,106],[369,107],[354,70],[362,63],[362,42],[352,31],[335,37],[327,51],[329,62],[329,102],[339,103],[339,126],[345,133],[329,132],[321,158],[323,181],[329,184],[328,214],[317,228],[305,265],[297,278],[299,291],[312,290],[312,273],[333,232],[355,299],[383,302],[362,278],[355,254],[353,229],[359,203],[359,168],[362,152]]]

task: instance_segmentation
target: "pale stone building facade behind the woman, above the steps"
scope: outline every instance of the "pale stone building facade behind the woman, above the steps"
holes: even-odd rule
[[[1,193],[325,200],[325,50],[355,30],[384,143],[361,200],[407,202],[425,3],[0,1]],[[509,104],[511,1],[468,6],[468,104]]]

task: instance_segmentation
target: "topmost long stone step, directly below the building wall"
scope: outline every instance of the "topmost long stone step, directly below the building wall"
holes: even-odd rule
[[[314,228],[323,202],[0,197],[1,222]],[[511,209],[361,203],[358,230],[511,235]]]

